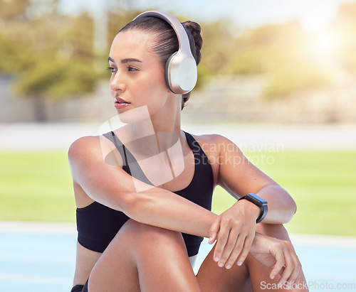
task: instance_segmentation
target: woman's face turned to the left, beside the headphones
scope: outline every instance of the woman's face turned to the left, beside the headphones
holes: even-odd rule
[[[119,114],[147,106],[152,117],[172,94],[164,80],[164,67],[152,52],[152,33],[123,31],[112,42],[109,64],[110,92]]]

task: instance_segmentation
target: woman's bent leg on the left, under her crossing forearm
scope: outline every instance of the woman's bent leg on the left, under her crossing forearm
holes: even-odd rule
[[[182,234],[128,220],[89,277],[89,292],[200,291]]]

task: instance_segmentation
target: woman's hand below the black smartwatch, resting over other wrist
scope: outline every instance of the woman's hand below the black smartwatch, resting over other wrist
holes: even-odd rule
[[[215,240],[214,261],[230,269],[236,259],[244,263],[256,232],[260,208],[247,200],[239,200],[216,218],[209,229],[209,244]]]

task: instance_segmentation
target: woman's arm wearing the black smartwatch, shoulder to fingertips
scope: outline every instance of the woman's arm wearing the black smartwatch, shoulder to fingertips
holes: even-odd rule
[[[294,200],[274,180],[253,166],[233,142],[223,136],[213,135],[210,141],[202,145],[206,153],[214,153],[210,148],[218,148],[211,161],[214,168],[219,168],[219,185],[236,199],[247,193],[255,193],[268,202],[268,213],[263,222],[283,224],[293,217],[296,208]],[[246,259],[260,212],[260,208],[252,202],[239,200],[216,218],[209,231],[209,242],[218,239],[214,260],[219,266],[232,266],[236,259],[238,264],[242,264]]]

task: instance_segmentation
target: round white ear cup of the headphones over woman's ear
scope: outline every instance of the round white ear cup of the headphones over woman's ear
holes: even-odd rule
[[[197,84],[197,63],[192,55],[178,51],[169,56],[164,75],[167,86],[173,93],[190,92]]]

